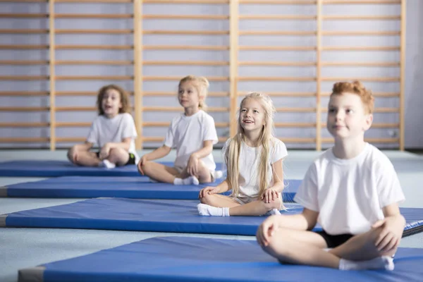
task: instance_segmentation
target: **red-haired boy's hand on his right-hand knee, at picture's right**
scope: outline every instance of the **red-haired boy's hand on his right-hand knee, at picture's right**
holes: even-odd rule
[[[379,252],[391,252],[400,245],[404,230],[403,216],[388,216],[376,221],[372,228],[381,228],[374,245]]]

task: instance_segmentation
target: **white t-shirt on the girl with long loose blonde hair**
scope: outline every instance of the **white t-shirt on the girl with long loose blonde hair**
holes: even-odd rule
[[[228,139],[223,146],[223,156],[226,154],[226,148],[230,141],[231,139]],[[245,201],[247,201],[247,198],[257,199],[257,197],[259,197],[259,161],[261,150],[262,146],[249,147],[245,142],[241,143],[240,158],[238,161],[240,171],[238,184],[240,185],[240,189],[239,194],[235,195],[235,197],[244,199]],[[267,180],[269,187],[273,183],[271,165],[286,156],[288,156],[286,145],[281,140],[272,138],[269,146],[269,163],[267,164]],[[223,159],[225,159],[225,157],[223,157]]]

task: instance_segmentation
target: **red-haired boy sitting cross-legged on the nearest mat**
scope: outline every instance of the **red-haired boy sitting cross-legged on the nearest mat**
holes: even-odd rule
[[[302,214],[270,216],[259,226],[257,241],[269,255],[341,270],[393,269],[405,197],[391,161],[364,142],[373,111],[372,92],[360,82],[333,85],[327,128],[335,145],[305,174],[294,198]],[[312,232],[316,223],[323,231]]]

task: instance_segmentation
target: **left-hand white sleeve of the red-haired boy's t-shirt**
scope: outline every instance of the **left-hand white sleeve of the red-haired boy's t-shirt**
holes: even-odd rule
[[[295,194],[294,201],[301,204],[302,207],[311,209],[314,212],[319,212],[319,202],[317,199],[317,168],[316,164],[309,166],[305,177]]]

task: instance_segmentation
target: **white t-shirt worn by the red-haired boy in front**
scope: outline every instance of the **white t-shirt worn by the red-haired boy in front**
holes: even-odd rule
[[[384,219],[383,207],[405,200],[388,157],[366,144],[353,159],[326,150],[309,166],[295,202],[319,212],[317,221],[331,235],[357,235]]]

